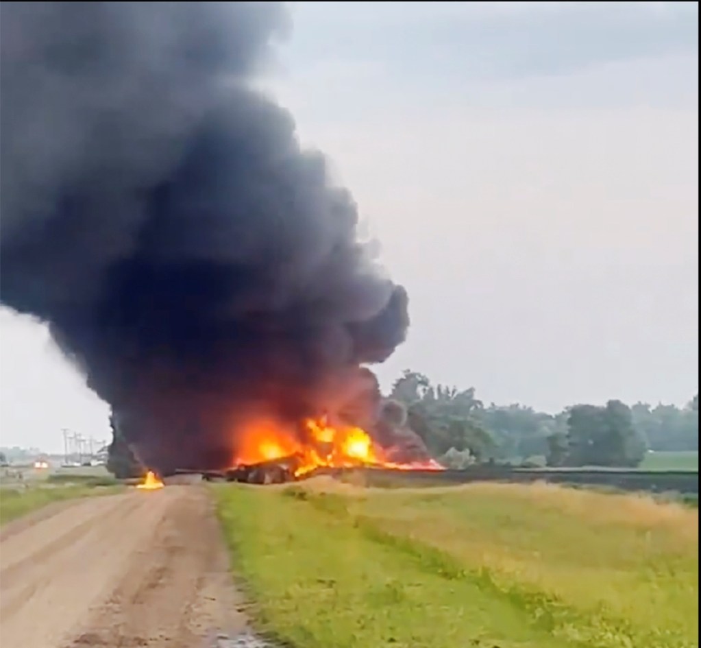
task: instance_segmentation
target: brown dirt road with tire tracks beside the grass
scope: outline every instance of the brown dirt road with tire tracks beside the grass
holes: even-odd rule
[[[200,648],[245,626],[201,486],[94,497],[0,533],[3,648]]]

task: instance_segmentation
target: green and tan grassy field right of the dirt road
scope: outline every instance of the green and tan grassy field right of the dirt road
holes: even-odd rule
[[[213,488],[261,629],[295,647],[698,645],[695,510],[540,484]]]

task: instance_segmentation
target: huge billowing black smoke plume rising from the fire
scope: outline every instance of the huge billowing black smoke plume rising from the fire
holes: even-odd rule
[[[1,4],[0,296],[48,322],[139,459],[222,467],[320,412],[407,295],[290,114],[252,88],[281,4]]]

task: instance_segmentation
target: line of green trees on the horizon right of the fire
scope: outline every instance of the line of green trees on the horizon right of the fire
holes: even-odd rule
[[[579,403],[557,414],[518,403],[484,405],[475,388],[432,384],[405,370],[390,399],[447,466],[544,457],[549,466],[638,466],[648,450],[698,450],[698,395],[685,407],[620,400]]]

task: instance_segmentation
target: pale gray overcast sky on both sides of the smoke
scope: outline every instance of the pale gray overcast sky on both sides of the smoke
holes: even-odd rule
[[[297,3],[261,86],[325,151],[411,299],[379,367],[557,411],[698,375],[695,3]],[[109,438],[0,311],[0,443]]]

